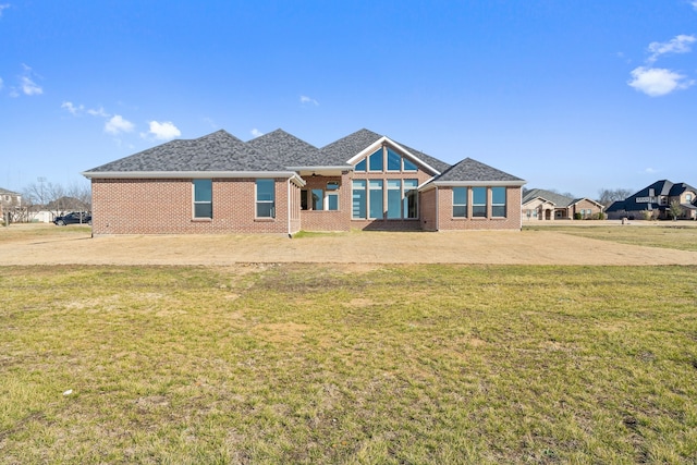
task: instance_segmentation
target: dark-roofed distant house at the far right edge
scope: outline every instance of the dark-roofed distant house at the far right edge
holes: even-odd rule
[[[624,200],[613,203],[606,211],[610,219],[668,220],[673,218],[670,212],[673,201],[681,206],[681,219],[697,219],[697,188],[668,180],[657,181]]]

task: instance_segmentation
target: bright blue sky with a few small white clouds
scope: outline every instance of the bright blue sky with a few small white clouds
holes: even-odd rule
[[[0,186],[362,127],[527,187],[697,185],[697,0],[0,0]]]

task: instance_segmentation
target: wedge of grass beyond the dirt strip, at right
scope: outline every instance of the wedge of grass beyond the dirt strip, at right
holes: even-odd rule
[[[647,247],[697,252],[697,228],[693,221],[660,225],[525,225],[530,231],[554,231],[582,237],[599,238]]]

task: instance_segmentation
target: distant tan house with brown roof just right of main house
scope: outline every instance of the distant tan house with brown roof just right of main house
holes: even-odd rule
[[[597,219],[602,204],[589,198],[572,198],[541,188],[528,191],[523,196],[523,221],[551,221]]]

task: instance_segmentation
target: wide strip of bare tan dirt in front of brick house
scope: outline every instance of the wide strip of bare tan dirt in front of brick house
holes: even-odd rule
[[[123,235],[88,230],[4,235],[0,265],[381,264],[697,265],[697,253],[540,231],[352,232],[289,238],[278,235]],[[69,227],[70,228],[70,227]],[[13,227],[9,228],[12,230]],[[342,267],[346,268],[346,267]]]

